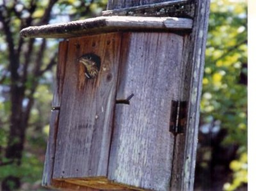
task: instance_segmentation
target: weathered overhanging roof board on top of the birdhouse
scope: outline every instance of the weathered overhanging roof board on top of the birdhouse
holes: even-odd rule
[[[176,17],[108,16],[62,24],[30,26],[20,31],[22,37],[71,38],[117,31],[177,31],[192,29],[193,20]]]

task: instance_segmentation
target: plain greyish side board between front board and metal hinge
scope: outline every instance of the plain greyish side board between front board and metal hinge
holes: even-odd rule
[[[144,189],[168,190],[174,136],[169,132],[171,100],[178,98],[182,36],[127,33],[116,98],[108,178]]]

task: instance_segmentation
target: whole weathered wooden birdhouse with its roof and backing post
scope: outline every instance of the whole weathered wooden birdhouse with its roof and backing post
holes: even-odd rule
[[[209,0],[151,2],[21,31],[65,38],[43,185],[193,190]]]

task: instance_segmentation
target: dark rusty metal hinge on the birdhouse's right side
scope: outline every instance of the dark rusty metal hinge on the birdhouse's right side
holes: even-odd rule
[[[172,100],[170,129],[174,135],[184,133],[187,121],[187,101]]]

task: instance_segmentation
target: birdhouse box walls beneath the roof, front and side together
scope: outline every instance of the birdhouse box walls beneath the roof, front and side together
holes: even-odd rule
[[[54,95],[60,111],[50,135],[54,184],[168,189],[183,38],[116,32],[61,43]]]

